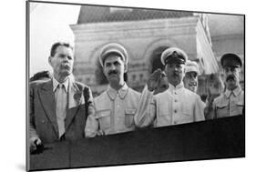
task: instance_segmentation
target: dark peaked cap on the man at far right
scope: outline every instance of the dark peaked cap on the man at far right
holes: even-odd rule
[[[241,58],[235,54],[225,54],[220,58],[221,66],[241,67]]]

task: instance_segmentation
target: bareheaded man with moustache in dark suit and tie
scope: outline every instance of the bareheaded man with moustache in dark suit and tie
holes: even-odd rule
[[[74,80],[73,47],[56,43],[48,57],[53,77],[30,83],[29,144],[76,140],[85,137],[87,115],[92,113],[89,87]]]

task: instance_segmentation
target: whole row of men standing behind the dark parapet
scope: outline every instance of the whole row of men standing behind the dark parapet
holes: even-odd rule
[[[199,66],[177,47],[169,47],[161,54],[164,71],[158,69],[149,76],[141,94],[125,82],[128,52],[124,46],[116,43],[103,46],[98,60],[107,76],[108,88],[93,98],[90,88],[75,81],[72,75],[73,47],[66,43],[52,46],[48,57],[53,68],[52,78],[29,85],[31,149],[42,142],[77,140],[133,131],[138,127],[170,126],[243,114],[242,63],[237,55],[221,57],[225,91],[206,104],[196,94]]]

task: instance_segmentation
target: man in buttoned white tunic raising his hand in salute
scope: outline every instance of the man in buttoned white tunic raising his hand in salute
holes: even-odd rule
[[[162,53],[161,62],[165,66],[169,88],[154,95],[162,72],[157,70],[150,76],[135,116],[137,126],[159,127],[204,120],[200,96],[183,86],[187,60],[186,53],[176,47],[170,47]]]

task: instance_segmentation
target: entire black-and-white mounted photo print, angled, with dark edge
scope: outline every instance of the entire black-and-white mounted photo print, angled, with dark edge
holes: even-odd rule
[[[26,1],[26,170],[246,157],[242,13]]]

